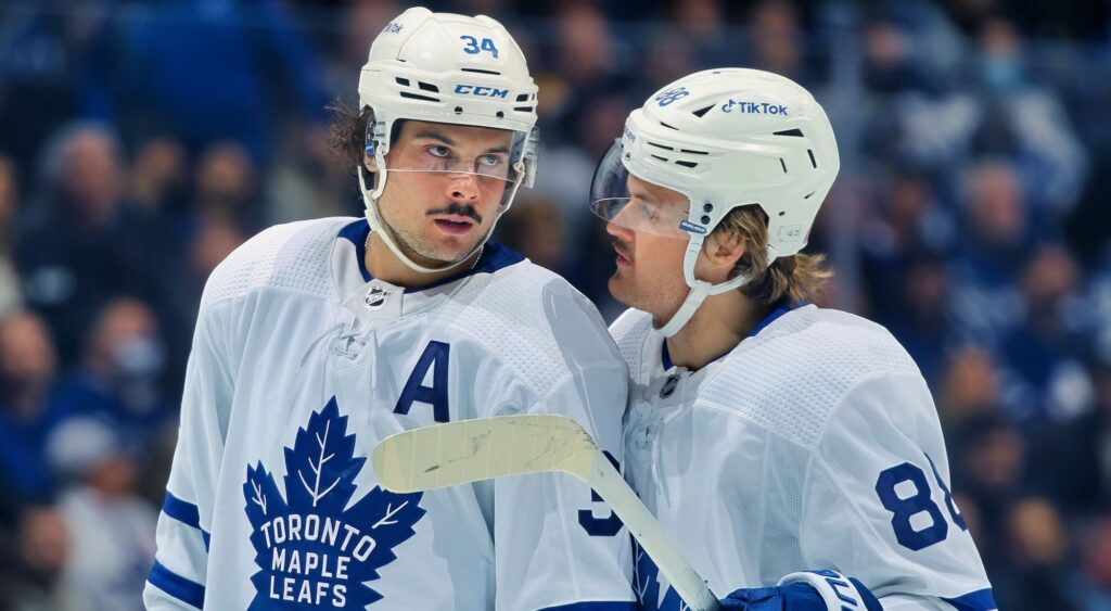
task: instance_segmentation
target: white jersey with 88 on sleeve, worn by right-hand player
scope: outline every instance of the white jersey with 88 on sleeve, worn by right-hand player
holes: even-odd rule
[[[627,478],[717,595],[831,569],[884,609],[994,608],[933,400],[882,327],[779,309],[695,372],[647,313],[610,331],[632,377]],[[644,609],[684,608],[638,555]]]

